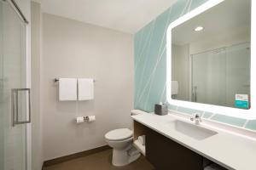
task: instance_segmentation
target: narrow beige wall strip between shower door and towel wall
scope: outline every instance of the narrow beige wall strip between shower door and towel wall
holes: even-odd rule
[[[31,3],[31,83],[32,83],[32,170],[43,165],[42,128],[40,111],[40,59],[41,59],[41,8],[40,3]]]

